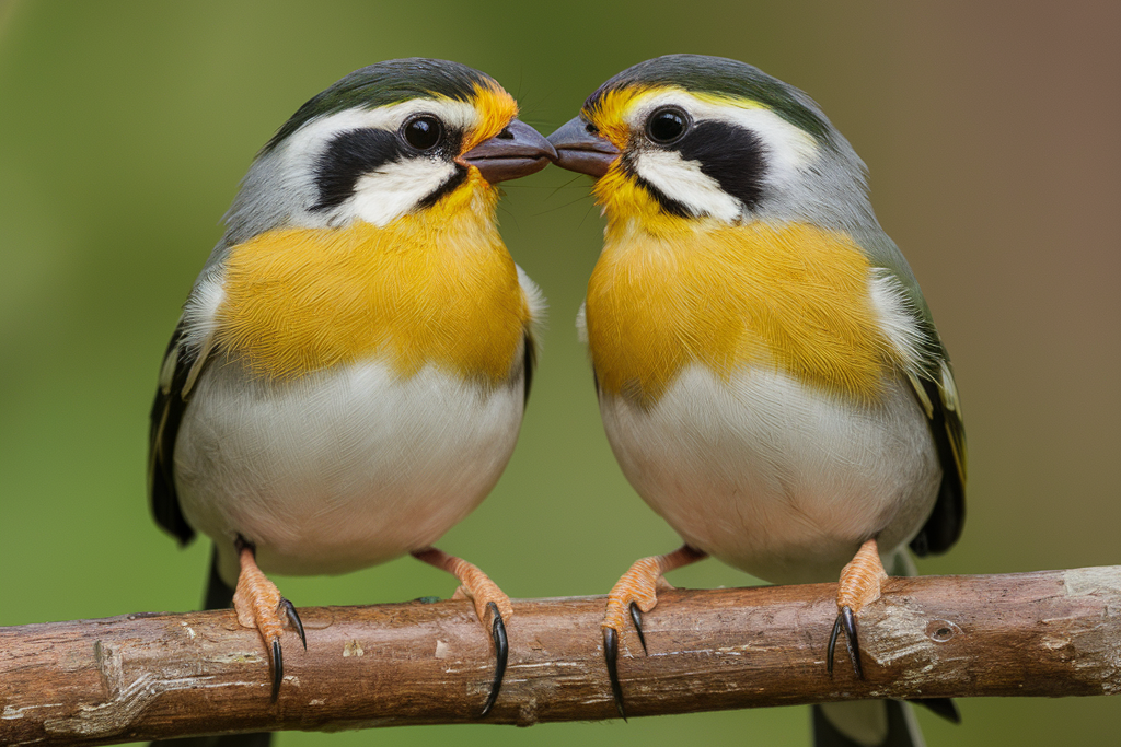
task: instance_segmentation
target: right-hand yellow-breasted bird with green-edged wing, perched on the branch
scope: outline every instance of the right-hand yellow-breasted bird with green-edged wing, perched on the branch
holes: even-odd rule
[[[601,85],[549,136],[606,218],[577,325],[608,440],[683,538],[609,595],[618,674],[663,575],[713,555],[776,583],[839,580],[839,635],[887,569],[953,545],[965,435],[945,346],[880,227],[867,170],[805,93],[745,63],[667,55]],[[923,701],[953,720],[947,699]],[[898,701],[814,707],[817,745],[921,744]]]

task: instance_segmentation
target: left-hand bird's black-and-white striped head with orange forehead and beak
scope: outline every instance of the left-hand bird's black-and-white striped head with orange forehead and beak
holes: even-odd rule
[[[261,149],[222,243],[278,227],[383,226],[437,205],[479,209],[474,198],[492,215],[497,184],[555,158],[517,113],[498,82],[458,63],[393,59],[355,71]]]

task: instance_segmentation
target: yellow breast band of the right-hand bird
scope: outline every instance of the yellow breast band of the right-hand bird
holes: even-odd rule
[[[872,398],[895,353],[851,237],[808,225],[609,227],[587,291],[600,386],[649,405],[683,367],[779,370]],[[634,223],[630,224],[631,226]]]

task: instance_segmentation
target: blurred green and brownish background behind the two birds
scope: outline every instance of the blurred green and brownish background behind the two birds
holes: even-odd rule
[[[0,0],[0,625],[198,604],[209,543],[177,550],[143,487],[147,412],[179,305],[257,148],[342,75],[413,55],[487,71],[545,133],[606,77],[673,52],[751,62],[810,93],[868,162],[880,220],[956,364],[969,522],[921,570],[1121,562],[1119,6],[845,4]],[[500,212],[552,320],[513,460],[439,544],[511,597],[602,594],[636,558],[676,547],[615,467],[573,327],[602,230],[587,187],[547,169],[510,185]],[[716,561],[670,578],[756,582]],[[411,559],[279,581],[302,606],[454,589]],[[1117,698],[961,709],[961,727],[920,715],[932,745],[1115,744],[1121,722]],[[279,744],[807,735],[798,708]]]

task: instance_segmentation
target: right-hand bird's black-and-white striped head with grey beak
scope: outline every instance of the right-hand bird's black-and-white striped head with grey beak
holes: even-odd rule
[[[609,222],[874,223],[864,166],[817,104],[751,65],[667,55],[604,83],[549,142]]]

